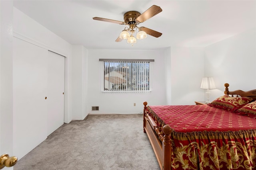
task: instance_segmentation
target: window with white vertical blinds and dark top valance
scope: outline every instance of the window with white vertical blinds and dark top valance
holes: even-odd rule
[[[150,61],[100,59],[104,65],[104,92],[149,92]]]

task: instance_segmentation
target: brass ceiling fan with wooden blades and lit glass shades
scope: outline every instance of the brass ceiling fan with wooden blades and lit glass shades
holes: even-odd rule
[[[146,27],[138,27],[137,25],[152,18],[156,14],[162,12],[162,9],[159,6],[153,5],[148,10],[140,14],[137,11],[128,11],[124,14],[124,21],[110,20],[106,18],[94,17],[92,19],[99,21],[106,21],[112,23],[118,23],[121,25],[129,25],[129,27],[125,27],[124,30],[120,33],[119,37],[116,39],[116,42],[120,42],[123,39],[127,39],[127,43],[135,44],[137,39],[145,39],[148,35],[153,37],[160,37],[162,33],[158,31],[154,31],[152,29]],[[134,33],[138,32],[136,38],[134,37]]]

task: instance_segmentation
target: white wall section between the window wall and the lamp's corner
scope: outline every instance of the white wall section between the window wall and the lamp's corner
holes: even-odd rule
[[[193,105],[204,100],[200,89],[204,76],[204,49],[171,47],[171,103],[170,105]]]

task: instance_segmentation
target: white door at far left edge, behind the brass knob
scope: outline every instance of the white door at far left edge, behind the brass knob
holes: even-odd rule
[[[10,156],[13,156],[12,5],[11,0],[0,1],[0,155]]]

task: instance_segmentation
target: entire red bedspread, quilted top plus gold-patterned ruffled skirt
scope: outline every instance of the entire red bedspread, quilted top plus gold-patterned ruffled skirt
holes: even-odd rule
[[[146,112],[160,129],[173,129],[172,169],[256,169],[256,119],[207,105],[148,106]]]

